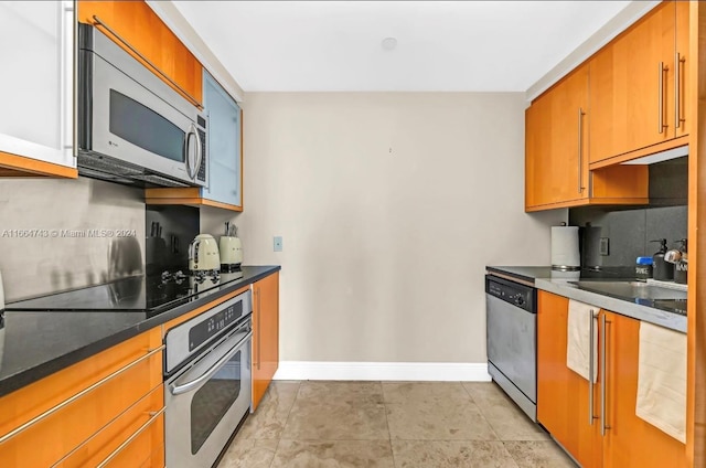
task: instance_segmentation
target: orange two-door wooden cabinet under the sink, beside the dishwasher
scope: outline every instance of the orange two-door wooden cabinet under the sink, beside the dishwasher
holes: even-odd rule
[[[593,385],[566,365],[568,302],[539,291],[537,311],[537,419],[587,468],[687,467],[686,446],[635,415],[640,321],[596,308],[598,362],[606,373]],[[606,322],[603,329],[601,323]],[[601,384],[606,383],[606,430],[601,435]],[[592,424],[591,424],[592,423]]]

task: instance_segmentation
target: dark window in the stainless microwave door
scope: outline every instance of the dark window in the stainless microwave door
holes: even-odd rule
[[[115,89],[110,89],[110,132],[147,151],[184,162],[184,131]]]

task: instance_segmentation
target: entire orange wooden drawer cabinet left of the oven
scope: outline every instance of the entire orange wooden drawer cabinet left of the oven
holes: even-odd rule
[[[161,417],[118,450],[164,406],[160,347],[154,328],[1,397],[0,466],[96,466],[114,451],[108,466],[140,466],[161,450],[150,466],[162,467]],[[117,465],[138,440],[141,458]]]

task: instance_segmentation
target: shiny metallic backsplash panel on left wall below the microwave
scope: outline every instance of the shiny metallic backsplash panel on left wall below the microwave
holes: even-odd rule
[[[142,190],[92,179],[0,180],[0,272],[12,301],[145,269]]]

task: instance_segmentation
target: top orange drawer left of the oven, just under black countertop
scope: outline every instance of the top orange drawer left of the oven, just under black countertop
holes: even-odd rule
[[[154,329],[1,398],[0,466],[50,466],[161,387],[160,347]]]

